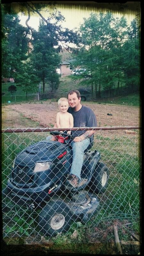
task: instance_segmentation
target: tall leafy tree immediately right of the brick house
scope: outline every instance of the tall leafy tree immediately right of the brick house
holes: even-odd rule
[[[110,12],[99,15],[92,13],[90,18],[84,19],[84,23],[80,27],[83,46],[76,56],[75,65],[86,68],[91,76],[87,79],[83,74],[83,77],[78,76],[77,79],[81,80],[80,83],[91,84],[92,94],[93,85],[95,85],[95,92],[99,94],[99,97],[101,85],[107,86],[106,81],[110,83],[109,79],[112,78],[108,74],[110,72],[108,57],[111,58],[108,52],[115,44],[116,35],[112,26],[113,22],[114,18]],[[110,86],[112,84],[110,83]],[[99,90],[97,90],[97,86],[99,86]]]

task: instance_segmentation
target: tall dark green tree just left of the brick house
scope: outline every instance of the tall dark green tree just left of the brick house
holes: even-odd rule
[[[54,48],[55,38],[50,35],[51,26],[44,25],[40,21],[38,32],[33,34],[33,51],[29,55],[32,65],[31,72],[43,83],[43,93],[45,92],[45,83],[50,87],[57,89],[59,85],[59,75],[56,68],[60,65],[60,55]]]

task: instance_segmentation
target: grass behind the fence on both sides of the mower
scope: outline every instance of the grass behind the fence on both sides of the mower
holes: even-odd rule
[[[28,145],[43,140],[48,133],[5,133],[2,136],[3,155],[2,155],[2,178],[3,187],[11,172],[13,160],[21,150]],[[106,200],[103,202],[99,195],[105,216],[128,216],[131,218],[138,215],[139,211],[139,173],[140,162],[138,156],[138,142],[125,136],[121,138],[105,138],[97,135],[92,150],[97,149],[101,153],[102,162],[104,162],[110,171],[110,178]],[[117,152],[118,150],[118,152]],[[134,153],[132,153],[134,152]],[[107,213],[107,214],[106,214]],[[102,216],[103,212],[102,212]],[[98,214],[96,221],[101,219]]]

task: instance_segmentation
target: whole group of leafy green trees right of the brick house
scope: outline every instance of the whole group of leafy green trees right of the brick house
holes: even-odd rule
[[[75,56],[74,67],[86,72],[72,79],[95,89],[95,98],[101,97],[101,89],[115,89],[119,95],[120,84],[126,84],[133,92],[140,84],[140,37],[138,19],[131,25],[127,20],[114,18],[113,14],[93,14],[80,26],[82,46]],[[87,74],[91,74],[87,76]],[[121,85],[122,86],[122,85]]]

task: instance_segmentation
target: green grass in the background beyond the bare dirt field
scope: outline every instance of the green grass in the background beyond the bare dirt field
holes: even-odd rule
[[[16,83],[13,83],[13,84],[16,86]],[[10,85],[11,83],[2,84],[2,92],[5,92],[5,96],[2,96],[3,104],[9,104],[8,103],[9,100],[11,101],[11,103],[31,102],[31,101],[38,100],[36,93],[33,93],[33,92],[28,92],[28,94],[30,95],[28,95],[27,96],[28,99],[26,99],[26,93],[21,90],[20,86],[17,86],[17,91],[14,92],[13,93],[14,95],[12,96],[11,93],[8,92],[8,87]],[[59,92],[58,98],[67,97],[67,92],[69,90],[71,89],[78,90],[81,87],[87,88],[87,85],[86,84],[79,85],[77,81],[74,81],[71,78],[71,76],[60,77],[60,85],[58,88],[58,92]],[[50,86],[48,84],[45,84],[45,92],[49,92],[50,90],[51,90]],[[42,92],[43,92],[43,89],[41,86],[41,93]],[[93,93],[95,93],[95,91]],[[120,104],[120,105],[140,106],[140,93],[133,93],[128,96],[119,96],[111,99],[98,99],[97,103],[99,104],[112,103],[112,104]]]

